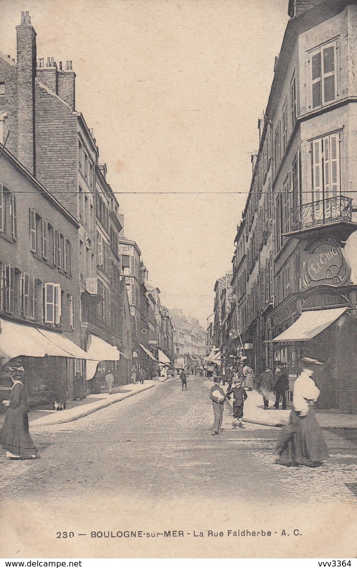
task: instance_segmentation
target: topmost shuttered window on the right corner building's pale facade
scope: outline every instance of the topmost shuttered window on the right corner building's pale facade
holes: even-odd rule
[[[312,108],[324,106],[338,97],[337,41],[310,52]]]

